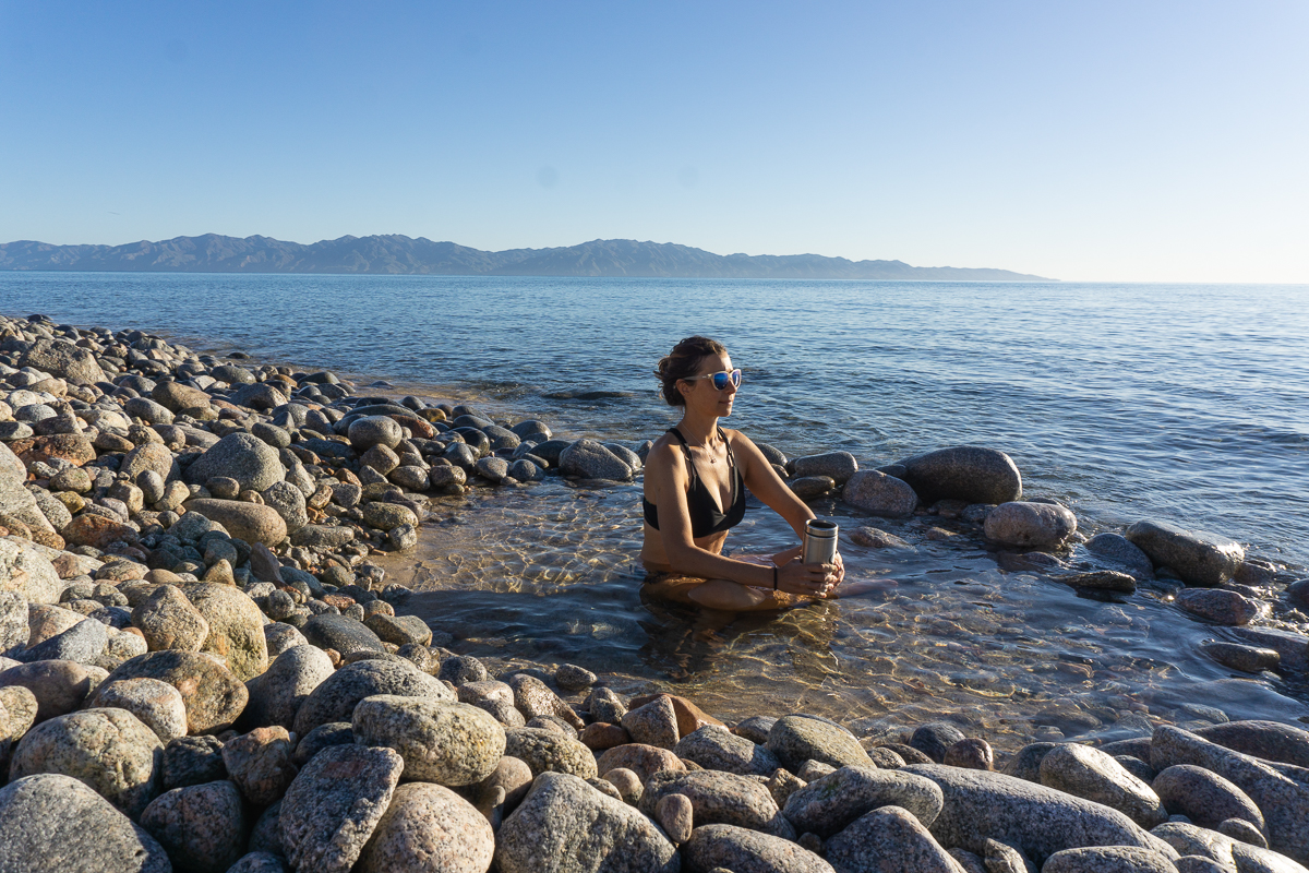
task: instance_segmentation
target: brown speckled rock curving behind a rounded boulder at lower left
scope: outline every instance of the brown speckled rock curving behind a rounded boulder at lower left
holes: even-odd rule
[[[208,656],[195,652],[139,654],[115,668],[105,682],[135,678],[160,679],[182,694],[187,733],[209,733],[232,726],[249,700],[240,679]]]

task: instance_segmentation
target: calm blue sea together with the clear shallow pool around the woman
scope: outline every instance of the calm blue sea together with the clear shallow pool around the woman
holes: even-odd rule
[[[1164,520],[1309,564],[1304,285],[0,272],[0,313],[166,332],[630,442],[675,421],[651,370],[700,332],[745,370],[730,424],[788,455],[880,466],[992,446],[1088,534]],[[784,700],[889,729],[952,712],[1001,745],[1131,733],[1186,707],[1309,715],[1302,688],[1195,652],[1232,637],[1162,596],[1086,601],[967,537],[928,541],[922,520],[874,522],[914,552],[843,546],[851,576],[880,584],[855,598],[750,619],[641,605],[637,500],[552,480],[437,501],[418,560],[391,571],[462,650],[572,660],[725,713]],[[734,539],[788,534],[758,510]]]

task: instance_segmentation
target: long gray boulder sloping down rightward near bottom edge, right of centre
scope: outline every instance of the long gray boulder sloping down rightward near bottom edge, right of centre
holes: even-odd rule
[[[986,840],[995,839],[1039,864],[1066,848],[1158,844],[1115,809],[1013,776],[942,764],[910,764],[899,772],[941,787],[945,804],[931,830],[942,846],[984,853]]]

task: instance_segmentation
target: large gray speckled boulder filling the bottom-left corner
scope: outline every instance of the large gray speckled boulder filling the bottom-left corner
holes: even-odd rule
[[[5,873],[171,873],[145,828],[69,776],[45,774],[0,788]]]

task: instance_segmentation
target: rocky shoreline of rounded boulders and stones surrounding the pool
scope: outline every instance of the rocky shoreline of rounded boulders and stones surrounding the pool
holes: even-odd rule
[[[0,870],[1305,869],[1292,725],[999,762],[945,722],[725,725],[571,665],[492,677],[369,560],[412,547],[432,496],[630,480],[643,449],[0,318]],[[1088,541],[990,449],[766,452],[802,497],[933,517],[1088,596],[1162,588],[1230,628],[1206,648],[1230,669],[1309,669],[1309,581],[1238,543],[1148,521]]]

